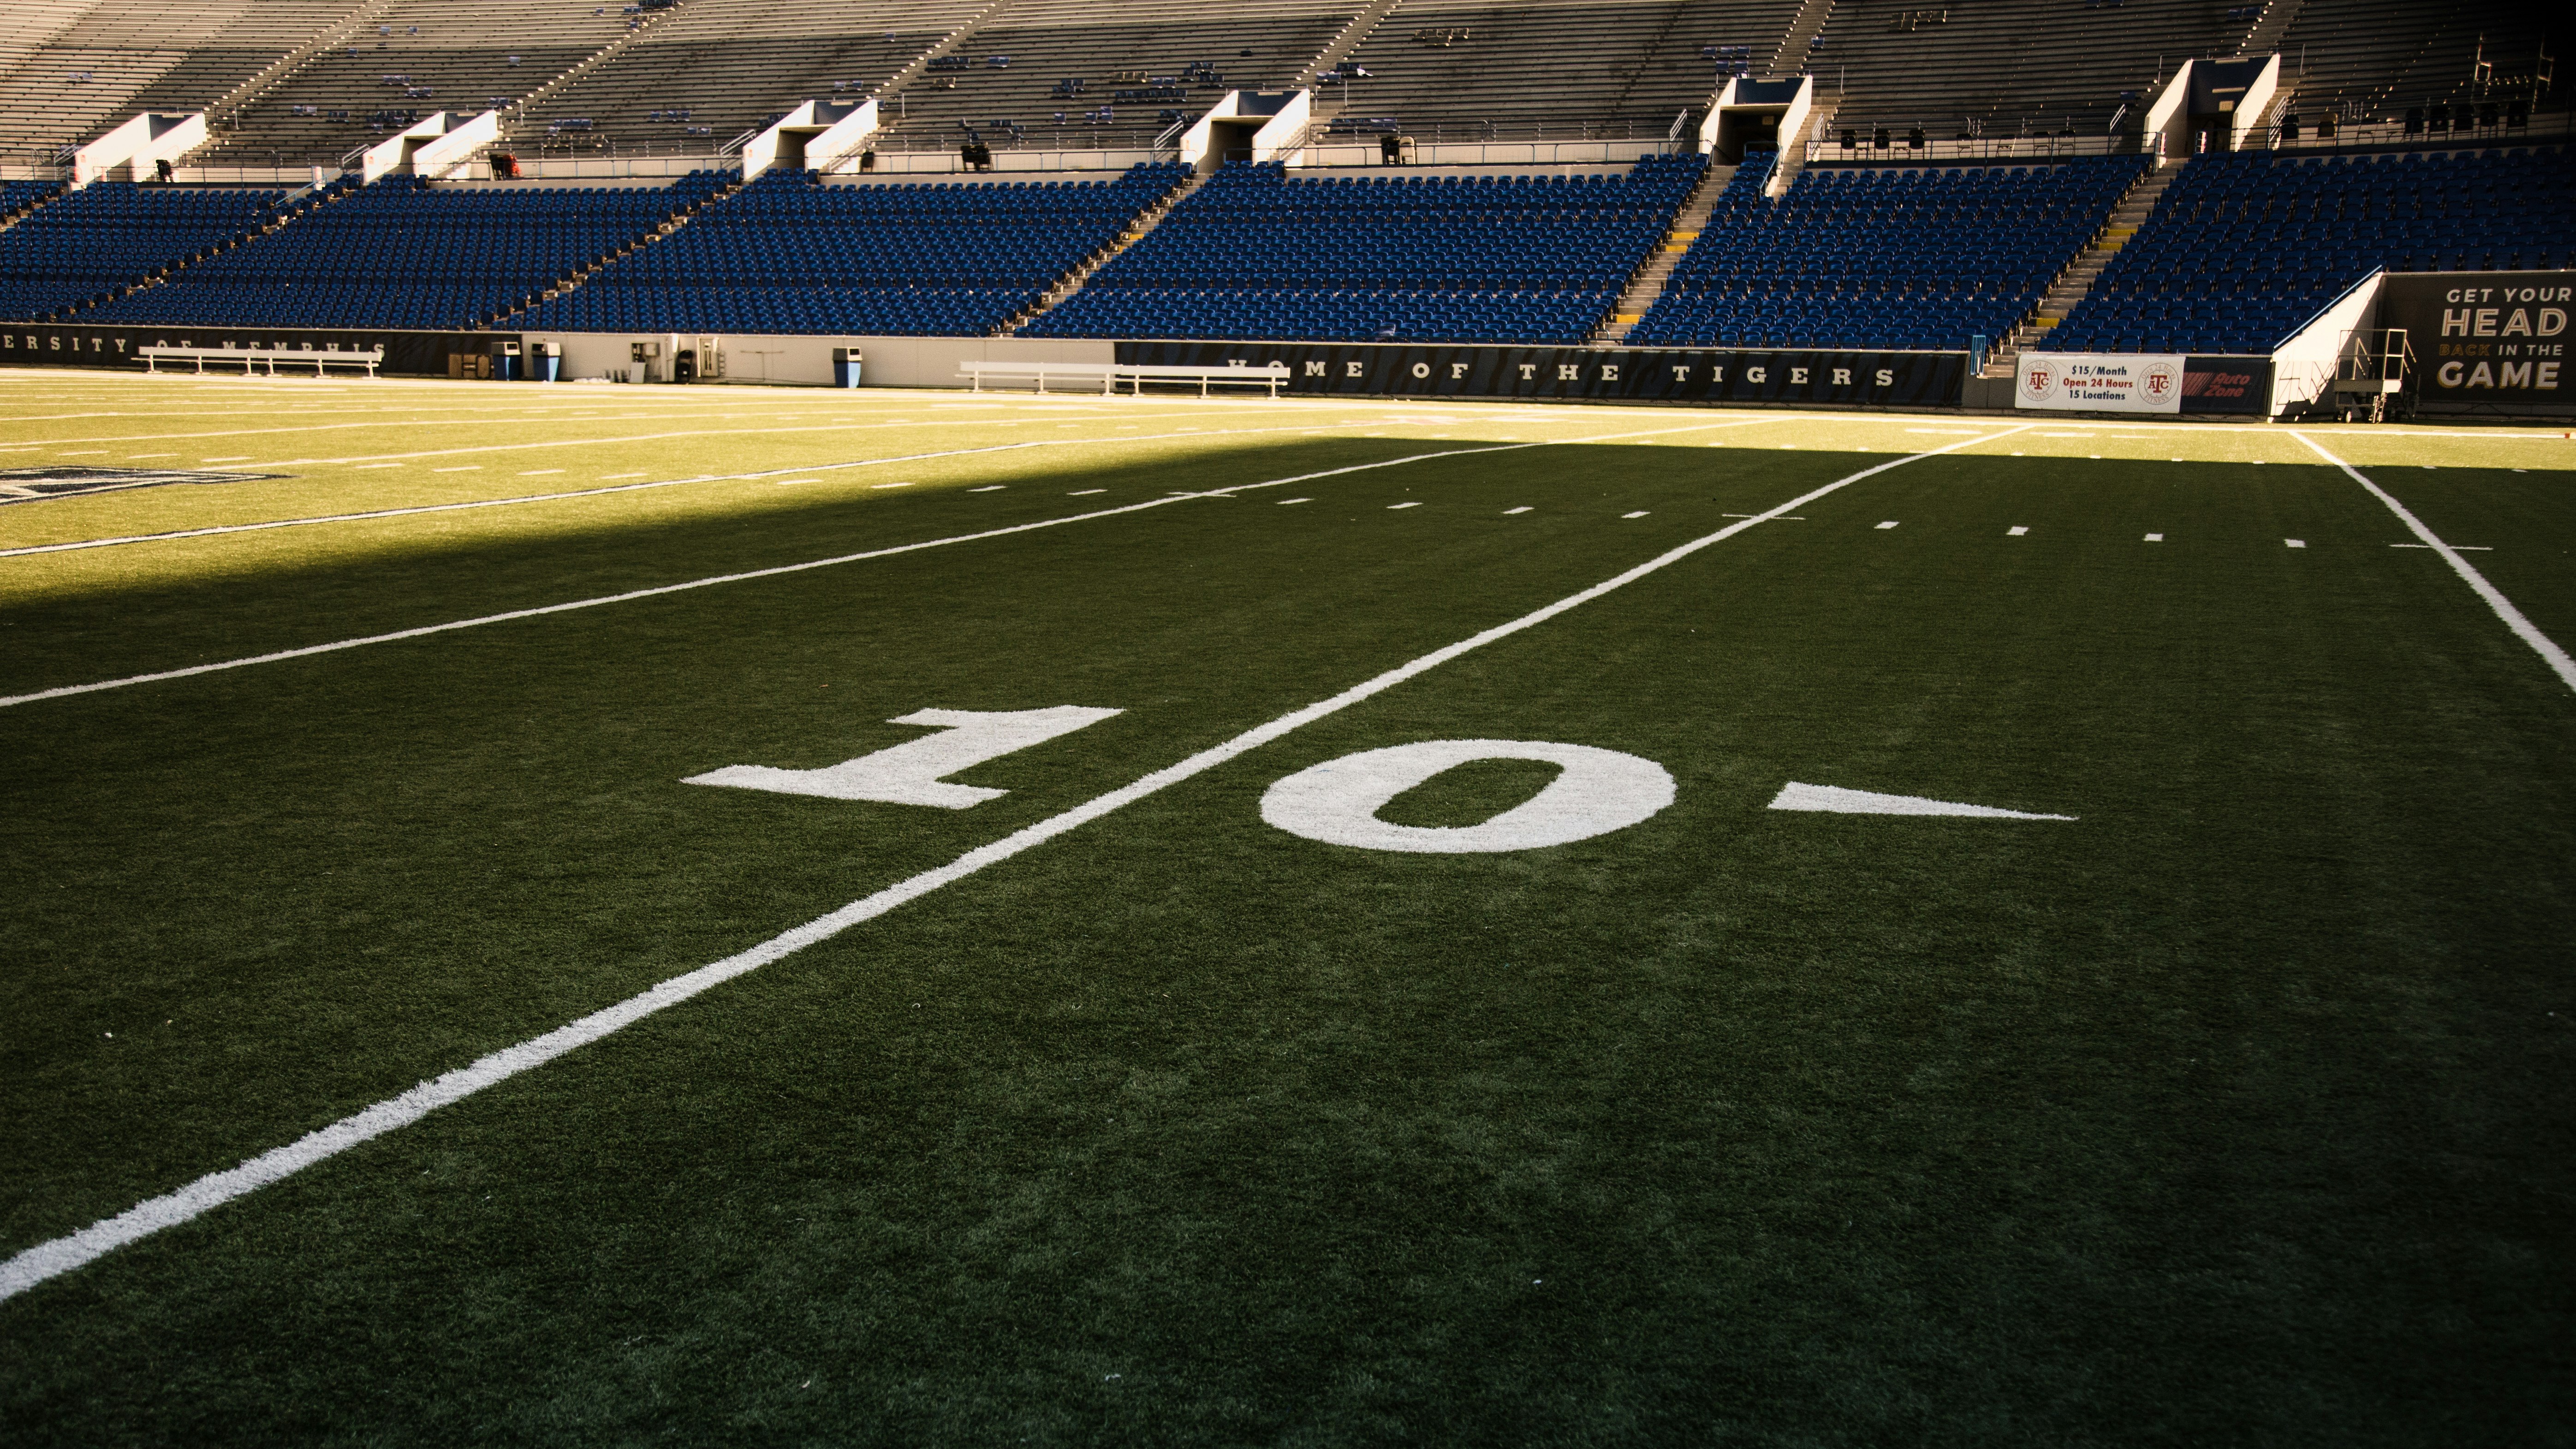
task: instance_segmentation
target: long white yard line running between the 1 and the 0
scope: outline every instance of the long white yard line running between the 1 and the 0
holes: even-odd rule
[[[2035,427],[2035,425],[2025,422],[2022,427]],[[1602,597],[1607,592],[1623,589],[1623,587],[1628,587],[1628,584],[1633,584],[1633,582],[1638,582],[1638,579],[1643,579],[1649,574],[1656,574],[1656,571],[1662,571],[1662,569],[1667,569],[1672,564],[1680,564],[1682,558],[1690,558],[1692,553],[1698,553],[1698,551],[1703,551],[1703,548],[1708,548],[1713,543],[1723,543],[1723,540],[1734,538],[1736,533],[1744,533],[1747,528],[1754,528],[1757,522],[1780,517],[1780,515],[1785,515],[1785,512],[1790,512],[1795,507],[1811,504],[1811,502],[1816,502],[1816,499],[1821,499],[1821,497],[1826,497],[1832,492],[1847,489],[1847,486],[1857,484],[1860,479],[1870,479],[1875,474],[1886,474],[1888,468],[1904,468],[1906,463],[1914,463],[1914,461],[1922,461],[1922,458],[1935,458],[1940,453],[1950,453],[1953,448],[1971,448],[1971,445],[1986,443],[1991,438],[2007,438],[2009,432],[2020,432],[2022,427],[2012,427],[2007,432],[1989,432],[1984,438],[1963,438],[1963,440],[1950,443],[1945,448],[1932,448],[1932,450],[1924,450],[1924,453],[1909,453],[1904,458],[1893,458],[1893,461],[1878,463],[1875,468],[1862,468],[1857,474],[1834,479],[1832,484],[1824,484],[1821,489],[1798,494],[1798,497],[1793,497],[1793,499],[1788,499],[1788,502],[1783,502],[1783,504],[1777,504],[1777,507],[1772,507],[1767,512],[1759,512],[1759,515],[1747,517],[1741,522],[1728,522],[1726,528],[1721,528],[1716,533],[1708,533],[1708,535],[1700,535],[1700,538],[1692,538],[1690,543],[1682,543],[1677,548],[1667,548],[1664,553],[1656,553],[1654,558],[1646,558],[1636,569],[1628,569],[1625,574],[1618,574],[1613,579],[1592,584],[1589,589],[1584,589],[1579,595],[1566,595],[1566,597],[1556,600],[1553,605],[1530,610],[1530,613],[1525,613],[1525,615],[1520,615],[1520,618],[1515,618],[1510,623],[1499,623],[1499,625],[1494,625],[1494,628],[1489,628],[1489,631],[1484,631],[1484,633],[1479,633],[1473,638],[1461,638],[1458,643],[1450,643],[1445,649],[1435,649],[1435,651],[1430,651],[1430,654],[1409,661],[1409,664],[1399,664],[1399,667],[1378,674],[1376,679],[1365,679],[1360,685],[1352,685],[1350,690],[1342,690],[1340,695],[1334,695],[1329,700],[1319,700],[1314,705],[1306,705],[1303,710],[1285,713],[1285,715],[1280,715],[1280,718],[1275,718],[1275,721],[1270,721],[1265,726],[1247,728],[1244,734],[1239,734],[1239,736],[1234,736],[1234,739],[1229,739],[1224,744],[1200,749],[1198,754],[1182,759],[1180,764],[1167,764],[1167,767],[1146,775],[1144,780],[1136,780],[1133,785],[1121,785],[1118,790],[1110,790],[1108,795],[1095,795],[1095,798],[1074,806],[1072,811],[1064,811],[1061,816],[1048,816],[1048,818],[1043,818],[1043,821],[1038,821],[1033,826],[1023,826],[1023,829],[1018,829],[1018,831],[1012,831],[1012,834],[1007,834],[1007,836],[1002,836],[1002,839],[997,839],[992,844],[969,849],[966,854],[951,860],[948,865],[940,865],[935,870],[925,870],[920,875],[912,875],[909,880],[896,880],[894,885],[886,885],[884,891],[878,891],[873,896],[863,896],[863,898],[850,901],[848,906],[842,906],[842,909],[837,909],[837,911],[832,911],[827,916],[817,916],[817,919],[811,919],[811,921],[806,921],[801,927],[781,932],[781,934],[775,934],[775,937],[755,945],[752,950],[729,955],[729,957],[724,957],[719,963],[711,963],[711,965],[701,965],[698,970],[690,970],[685,975],[672,975],[670,981],[649,986],[649,988],[629,996],[626,1001],[618,1001],[616,1006],[605,1006],[605,1009],[592,1011],[592,1014],[587,1014],[587,1017],[582,1017],[577,1022],[567,1022],[567,1024],[546,1032],[544,1037],[531,1037],[526,1042],[518,1042],[515,1048],[502,1048],[502,1050],[497,1050],[497,1053],[492,1053],[492,1055],[487,1055],[487,1058],[482,1058],[482,1060],[477,1060],[471,1066],[461,1066],[461,1068],[456,1068],[456,1071],[451,1071],[446,1076],[438,1076],[433,1081],[422,1081],[422,1084],[412,1086],[410,1091],[404,1091],[399,1096],[389,1096],[389,1099],[384,1099],[384,1102],[379,1102],[374,1107],[366,1107],[363,1112],[353,1112],[350,1117],[343,1117],[343,1120],[332,1122],[330,1127],[317,1127],[314,1132],[307,1132],[304,1138],[296,1138],[294,1143],[286,1143],[283,1148],[270,1148],[270,1150],[265,1150],[265,1153],[245,1161],[237,1168],[206,1174],[206,1176],[191,1181],[188,1186],[183,1186],[178,1192],[167,1192],[162,1197],[152,1197],[152,1199],[137,1202],[134,1207],[118,1212],[116,1217],[103,1217],[103,1220],[98,1220],[98,1223],[77,1230],[77,1233],[67,1233],[62,1238],[52,1238],[46,1243],[36,1243],[33,1248],[26,1248],[18,1256],[13,1256],[5,1264],[0,1264],[0,1300],[18,1297],[21,1292],[26,1292],[31,1287],[36,1287],[36,1284],[41,1284],[46,1279],[62,1277],[62,1274],[67,1274],[67,1271],[72,1271],[72,1269],[77,1269],[82,1264],[90,1264],[90,1261],[95,1261],[95,1259],[100,1259],[100,1256],[106,1256],[106,1253],[111,1253],[111,1251],[116,1251],[116,1248],[121,1248],[126,1243],[134,1243],[137,1238],[147,1238],[152,1233],[160,1233],[162,1228],[178,1228],[180,1223],[188,1223],[191,1217],[198,1217],[198,1215],[204,1215],[211,1207],[222,1207],[224,1202],[232,1202],[234,1197],[247,1197],[247,1194],[252,1194],[252,1192],[258,1192],[258,1189],[263,1189],[263,1186],[268,1186],[273,1181],[281,1181],[286,1176],[294,1176],[296,1171],[304,1171],[304,1168],[309,1168],[309,1166],[314,1166],[314,1163],[319,1163],[325,1158],[335,1158],[335,1156],[340,1156],[340,1153],[345,1153],[345,1150],[350,1150],[350,1148],[355,1148],[355,1145],[361,1145],[361,1143],[366,1143],[371,1138],[381,1138],[381,1135],[386,1135],[386,1132],[392,1132],[397,1127],[407,1127],[407,1125],[428,1117],[430,1112],[435,1112],[440,1107],[448,1107],[453,1102],[464,1102],[466,1096],[474,1096],[477,1091],[482,1091],[487,1086],[507,1081],[507,1078],[513,1078],[513,1076],[518,1076],[523,1071],[546,1066],[549,1060],[554,1060],[554,1058],[559,1058],[559,1055],[564,1055],[564,1053],[569,1053],[574,1048],[590,1045],[590,1042],[595,1042],[595,1040],[600,1040],[600,1037],[605,1037],[605,1035],[611,1035],[611,1032],[616,1032],[621,1027],[631,1027],[634,1022],[641,1022],[644,1017],[652,1017],[654,1011],[662,1011],[667,1006],[677,1006],[680,1001],[688,1001],[690,996],[698,996],[701,991],[706,991],[711,986],[721,986],[721,983],[726,983],[726,981],[732,981],[737,975],[747,975],[752,970],[760,970],[762,965],[770,965],[773,960],[783,960],[783,957],[788,957],[788,955],[793,955],[793,952],[799,952],[799,950],[804,950],[809,945],[827,942],[827,939],[837,937],[840,932],[848,932],[850,927],[855,927],[860,921],[873,921],[876,916],[884,916],[886,911],[894,911],[896,906],[904,906],[909,901],[920,901],[922,896],[938,891],[940,885],[953,885],[958,880],[966,880],[969,875],[984,870],[987,865],[999,865],[999,862],[1005,862],[1005,860],[1010,860],[1010,857],[1015,857],[1015,854],[1020,854],[1025,849],[1033,849],[1038,844],[1046,844],[1046,842],[1056,839],[1059,834],[1066,834],[1072,829],[1087,826],[1090,821],[1097,821],[1100,816],[1108,816],[1113,811],[1133,806],[1136,800],[1144,800],[1146,795],[1154,795],[1159,790],[1170,790],[1172,785],[1180,785],[1182,780],[1190,780],[1193,775],[1206,775],[1208,770],[1216,770],[1218,764],[1226,764],[1229,759],[1249,754],[1249,752],[1255,752],[1255,749],[1260,749],[1260,746],[1265,746],[1265,744],[1270,744],[1270,741],[1275,741],[1275,739],[1280,739],[1280,736],[1285,736],[1285,734],[1291,734],[1296,728],[1303,728],[1303,726],[1309,726],[1309,723],[1314,723],[1319,718],[1342,713],[1350,705],[1358,705],[1360,700],[1368,700],[1373,695],[1394,690],[1396,685],[1401,685],[1401,682],[1406,682],[1406,679],[1412,679],[1417,674],[1427,674],[1427,672],[1448,664],[1450,659],[1458,659],[1461,654],[1471,654],[1476,649],[1484,649],[1486,643],[1494,643],[1497,638],[1510,638],[1510,636],[1515,636],[1515,633],[1520,633],[1525,628],[1538,628],[1540,623],[1548,623],[1551,618],[1556,618],[1561,613],[1577,610],[1577,607],[1582,607],[1582,605],[1587,605],[1587,602],[1592,602],[1592,600],[1597,600],[1597,597]],[[1690,432],[1690,430],[1687,427],[1674,427],[1674,430],[1667,430],[1667,432]],[[1522,448],[1546,448],[1546,443],[1525,443]],[[1504,448],[1471,448],[1471,453],[1502,453],[1502,450]],[[1448,458],[1453,453],[1432,453],[1432,456],[1435,458]],[[1365,466],[1381,468],[1386,463],[1365,463]],[[1360,468],[1340,468],[1340,471],[1360,471]],[[1327,476],[1327,474],[1311,474],[1311,476]],[[1293,479],[1280,479],[1280,481],[1293,481]],[[1270,486],[1270,484],[1247,484],[1247,486]],[[1136,507],[1149,507],[1149,504],[1136,504]]]

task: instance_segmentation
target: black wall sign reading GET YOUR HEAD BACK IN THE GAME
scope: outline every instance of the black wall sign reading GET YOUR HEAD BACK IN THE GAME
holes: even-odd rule
[[[2380,327],[2403,327],[2427,412],[2576,412],[2576,270],[2391,273]]]

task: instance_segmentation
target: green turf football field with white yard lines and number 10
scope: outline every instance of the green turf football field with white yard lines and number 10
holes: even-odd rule
[[[2571,484],[0,373],[0,1441],[2576,1444]]]

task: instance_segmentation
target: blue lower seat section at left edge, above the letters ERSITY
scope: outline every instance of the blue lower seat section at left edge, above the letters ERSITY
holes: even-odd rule
[[[0,319],[49,322],[265,226],[283,190],[100,180],[0,232]]]

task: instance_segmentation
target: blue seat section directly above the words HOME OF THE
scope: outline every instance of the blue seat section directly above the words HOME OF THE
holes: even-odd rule
[[[1705,167],[1695,154],[1628,175],[1229,165],[1025,335],[1582,342]]]

